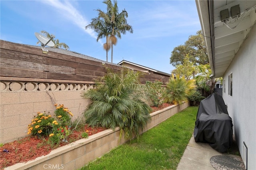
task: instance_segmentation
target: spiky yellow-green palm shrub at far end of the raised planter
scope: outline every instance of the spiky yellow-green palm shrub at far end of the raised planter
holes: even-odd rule
[[[172,74],[166,84],[164,101],[174,105],[180,104],[195,92],[195,88],[196,85],[194,79],[186,81],[184,76],[180,77],[179,75],[176,75],[176,77],[174,77],[174,74]]]

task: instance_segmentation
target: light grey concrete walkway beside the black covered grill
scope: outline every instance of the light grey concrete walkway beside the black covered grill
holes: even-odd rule
[[[177,170],[215,170],[210,164],[210,158],[216,155],[241,158],[232,154],[220,153],[214,150],[208,143],[195,142],[192,136],[178,164]]]

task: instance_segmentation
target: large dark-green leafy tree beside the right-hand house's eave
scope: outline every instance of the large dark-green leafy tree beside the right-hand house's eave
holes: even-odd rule
[[[187,54],[189,55],[189,61],[194,65],[204,65],[209,62],[202,30],[198,31],[194,36],[189,36],[184,45],[179,45],[173,49],[170,64],[174,67],[182,65]]]

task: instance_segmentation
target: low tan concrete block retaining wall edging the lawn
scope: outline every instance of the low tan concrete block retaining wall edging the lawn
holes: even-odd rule
[[[151,113],[151,122],[141,131],[140,134],[146,130],[158,125],[162,121],[168,119],[175,113],[182,111],[189,106],[188,102],[181,105],[173,105],[161,111]],[[80,139],[76,142],[67,144],[55,150],[46,156],[40,156],[35,160],[26,163],[18,163],[13,166],[4,168],[4,170],[42,170],[42,169],[63,169],[76,170],[88,164],[90,161],[106,154],[113,148],[124,144],[124,138],[119,142],[120,128],[115,131],[108,129],[86,139]]]

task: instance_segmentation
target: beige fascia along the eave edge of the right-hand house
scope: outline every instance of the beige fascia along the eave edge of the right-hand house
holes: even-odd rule
[[[204,36],[204,42],[212,69],[212,77],[215,75],[215,53],[214,53],[214,1],[213,0],[196,0],[196,8]]]

